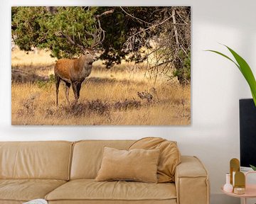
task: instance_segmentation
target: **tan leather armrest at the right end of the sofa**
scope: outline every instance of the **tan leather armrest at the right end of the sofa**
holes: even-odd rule
[[[175,185],[178,204],[209,204],[208,171],[197,157],[182,156],[176,167]]]

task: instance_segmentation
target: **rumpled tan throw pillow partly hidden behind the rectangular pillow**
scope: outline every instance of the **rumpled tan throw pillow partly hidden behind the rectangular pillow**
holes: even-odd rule
[[[159,183],[173,182],[175,180],[176,166],[181,163],[181,154],[176,142],[160,137],[145,137],[134,142],[129,149],[160,149],[157,176]]]

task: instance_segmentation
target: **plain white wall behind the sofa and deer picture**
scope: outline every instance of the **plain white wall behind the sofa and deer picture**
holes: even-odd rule
[[[124,4],[119,3],[120,1],[105,3],[104,0],[13,0],[12,3],[9,0],[2,0],[1,2],[4,3],[0,7],[0,140],[122,140],[146,136],[176,140],[182,154],[196,155],[206,164],[210,173],[211,203],[238,203],[238,200],[231,202],[228,196],[223,196],[220,186],[225,182],[225,172],[228,171],[230,159],[239,158],[238,100],[251,97],[250,90],[231,62],[203,50],[225,51],[224,47],[218,44],[222,42],[244,56],[255,72],[255,0],[166,2],[130,0],[125,3],[125,6],[192,6],[192,124],[183,127],[12,127],[11,6],[89,4],[124,6]]]

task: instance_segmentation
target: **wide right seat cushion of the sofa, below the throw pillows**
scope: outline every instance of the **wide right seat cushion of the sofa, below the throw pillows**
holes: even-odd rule
[[[176,200],[174,183],[134,181],[69,181],[46,196],[46,200]]]

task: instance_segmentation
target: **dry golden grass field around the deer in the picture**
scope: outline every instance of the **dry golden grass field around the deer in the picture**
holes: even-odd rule
[[[12,125],[189,125],[191,89],[176,81],[144,76],[144,69],[94,64],[78,103],[68,105],[61,83],[55,106],[53,67],[48,53],[12,51]],[[141,96],[141,97],[139,97]],[[144,97],[142,97],[144,96]],[[70,101],[74,100],[70,89]]]

